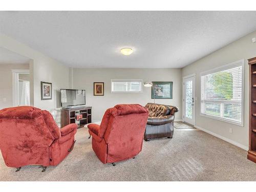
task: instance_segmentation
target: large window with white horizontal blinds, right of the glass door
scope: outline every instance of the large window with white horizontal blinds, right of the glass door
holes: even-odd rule
[[[243,126],[243,65],[239,60],[201,73],[201,115]]]

